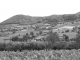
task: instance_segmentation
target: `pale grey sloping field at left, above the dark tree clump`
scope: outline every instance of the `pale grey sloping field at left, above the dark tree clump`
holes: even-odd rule
[[[34,30],[26,30],[26,31],[16,31],[16,33],[12,34],[10,32],[10,34],[8,34],[8,32],[5,32],[5,33],[1,33],[0,34],[3,36],[0,36],[0,42],[4,42],[5,40],[6,41],[9,41],[11,37],[14,37],[14,36],[18,36],[20,34],[19,37],[23,37],[23,35],[26,35],[26,33],[30,33],[30,32],[34,32],[34,34],[36,35],[36,33],[39,33],[39,31],[34,31]]]

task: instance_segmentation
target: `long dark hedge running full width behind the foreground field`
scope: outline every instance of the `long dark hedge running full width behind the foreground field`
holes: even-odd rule
[[[52,42],[10,42],[10,43],[1,43],[0,51],[22,51],[22,50],[45,50],[45,49],[79,49],[80,44],[76,42],[66,42],[66,41],[56,41]]]

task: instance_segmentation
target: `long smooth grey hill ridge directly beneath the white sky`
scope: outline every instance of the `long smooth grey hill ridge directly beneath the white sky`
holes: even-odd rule
[[[80,20],[80,12],[76,14],[64,14],[64,15],[51,15],[44,17],[32,17],[26,15],[15,15],[10,17],[9,19],[0,23],[1,25],[5,24],[34,24],[38,22],[47,22],[50,24],[57,24],[57,22],[66,22],[66,21],[76,21]]]

